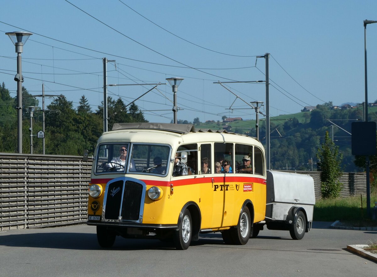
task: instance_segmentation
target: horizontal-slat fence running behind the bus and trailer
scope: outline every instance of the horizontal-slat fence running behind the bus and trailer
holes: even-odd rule
[[[0,153],[0,231],[85,222],[91,167],[81,156]],[[296,173],[313,177],[320,199],[321,173]],[[341,197],[366,194],[365,174],[343,173],[339,180]]]

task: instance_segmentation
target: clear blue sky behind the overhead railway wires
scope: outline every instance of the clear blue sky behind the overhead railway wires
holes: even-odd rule
[[[265,80],[265,59],[256,59],[265,53],[271,117],[329,101],[365,100],[363,20],[377,20],[375,0],[69,2],[21,0],[17,9],[12,1],[2,3],[0,82],[12,96],[17,53],[5,32],[27,30],[34,34],[22,53],[23,85],[41,94],[43,82],[46,94],[64,94],[74,107],[85,95],[93,111],[103,100],[104,57],[116,61],[107,65],[108,84],[184,78],[177,93],[182,120],[255,119],[242,100],[265,102],[264,83],[226,84],[242,99],[233,103],[236,97],[213,82]],[[367,49],[368,102],[374,102],[377,24],[367,26]],[[108,93],[129,103],[150,88],[116,86]],[[170,122],[172,88],[157,88],[136,104],[150,122]]]

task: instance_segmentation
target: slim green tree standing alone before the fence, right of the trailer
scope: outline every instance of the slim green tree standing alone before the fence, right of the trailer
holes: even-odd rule
[[[339,152],[339,147],[330,139],[328,131],[326,131],[325,142],[321,148],[318,148],[317,159],[320,161],[322,168],[322,197],[337,198],[343,185],[338,181],[341,175],[340,164],[343,160],[343,154]]]

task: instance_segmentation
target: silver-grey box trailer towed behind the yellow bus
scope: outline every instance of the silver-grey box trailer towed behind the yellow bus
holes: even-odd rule
[[[302,239],[313,222],[316,204],[313,178],[269,170],[266,186],[265,220],[253,225],[250,237],[256,237],[266,225],[269,230],[287,230],[293,239]]]

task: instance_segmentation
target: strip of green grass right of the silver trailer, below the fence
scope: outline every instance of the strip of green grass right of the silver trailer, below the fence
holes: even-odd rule
[[[371,213],[377,193],[371,194]],[[377,220],[371,220],[366,215],[366,196],[320,199],[314,206],[314,221],[337,221],[355,227],[377,227]]]

